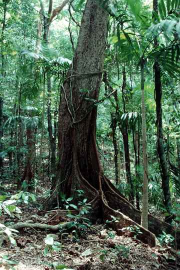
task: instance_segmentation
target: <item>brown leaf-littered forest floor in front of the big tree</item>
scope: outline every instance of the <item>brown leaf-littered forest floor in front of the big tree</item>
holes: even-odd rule
[[[10,224],[30,220],[34,223],[54,224],[57,221],[57,216],[52,215],[52,212],[42,215],[33,204],[21,204],[19,208],[22,211],[20,217],[2,215],[0,222]],[[63,221],[69,221],[69,218]],[[49,233],[60,242],[61,248],[44,255],[44,238]],[[7,238],[3,239],[0,260],[3,255],[8,259],[0,264],[0,269],[50,270],[50,263],[61,265],[57,269],[65,265],[67,269],[73,270],[180,269],[180,264],[175,265],[176,254],[170,247],[149,247],[134,237],[117,236],[105,224],[88,228],[86,233],[76,239],[71,232],[61,234],[33,228],[19,230],[14,238],[16,245],[11,245]],[[17,265],[9,264],[8,260],[16,261]]]

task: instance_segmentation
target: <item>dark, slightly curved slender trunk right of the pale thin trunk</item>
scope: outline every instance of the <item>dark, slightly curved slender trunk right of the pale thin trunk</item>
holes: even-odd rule
[[[158,12],[158,0],[153,0],[153,11]],[[158,45],[157,38],[154,38],[154,47]],[[163,127],[162,127],[162,85],[160,67],[157,60],[154,61],[154,91],[155,91],[155,102],[156,102],[156,126],[157,126],[157,154],[160,163],[161,179],[162,179],[162,190],[164,194],[164,205],[169,212],[171,209],[170,189],[169,189],[169,173],[167,160],[164,151],[163,143]],[[166,221],[171,221],[171,218],[167,216]]]

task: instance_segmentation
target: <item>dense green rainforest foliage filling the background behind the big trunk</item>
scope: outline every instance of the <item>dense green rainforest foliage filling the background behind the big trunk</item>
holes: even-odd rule
[[[168,164],[171,199],[173,203],[177,203],[180,194],[179,1],[159,1],[159,14],[152,12],[152,1],[115,0],[113,3],[109,1],[108,6],[104,1],[99,2],[102,8],[107,8],[110,15],[105,75],[99,100],[94,101],[98,106],[96,137],[101,164],[104,173],[125,196],[128,197],[133,188],[136,205],[137,200],[141,205],[143,167],[139,64],[143,58],[149,203],[152,210],[154,207],[160,209],[163,205],[163,194],[156,150],[153,64],[154,60],[157,60],[161,70],[163,145]],[[54,1],[53,8],[58,4],[57,0]],[[47,103],[50,103],[52,131],[55,132],[60,85],[71,63],[84,4],[85,1],[71,1],[69,7],[66,5],[57,14],[50,23],[48,44],[45,44],[42,38],[43,25],[40,36],[37,34],[37,27],[39,23],[43,24],[43,15],[47,16],[46,2],[45,11],[43,10],[45,14],[37,0],[3,0],[0,3],[0,94],[3,99],[0,127],[1,183],[17,183],[19,187],[30,147],[27,134],[29,126],[33,137],[32,176],[31,181],[23,187],[27,188],[30,184],[31,190],[35,190],[46,176],[50,183],[52,175]],[[158,46],[154,47],[154,38],[157,37]],[[40,49],[35,47],[38,39],[41,43]],[[51,80],[50,93],[46,91],[47,75]],[[82,95],[85,94],[85,89],[82,89]],[[125,167],[127,160],[124,156],[124,130],[128,137],[130,172],[127,172]],[[118,176],[114,169],[114,141]],[[40,147],[42,157],[39,159]],[[132,186],[126,181],[127,173],[130,173],[128,177],[131,177]],[[5,189],[3,192],[5,193]]]

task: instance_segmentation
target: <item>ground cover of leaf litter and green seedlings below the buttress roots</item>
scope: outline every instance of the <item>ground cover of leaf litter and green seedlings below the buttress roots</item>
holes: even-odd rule
[[[47,179],[48,180],[48,179]],[[58,210],[39,210],[44,201],[44,191],[48,181],[36,189],[32,201],[18,205],[20,214],[1,215],[0,222],[12,227],[19,222],[56,225],[73,221],[73,217]],[[3,183],[8,196],[14,194],[16,185]],[[31,194],[31,193],[29,193]],[[23,201],[24,199],[24,201]],[[27,202],[25,201],[25,202]],[[70,198],[65,201],[70,203]],[[73,205],[73,204],[69,204]],[[85,205],[85,204],[84,204]],[[68,208],[66,206],[65,208]],[[73,206],[75,208],[75,205]],[[73,215],[72,215],[73,216]],[[83,215],[86,216],[86,215]],[[115,222],[114,217],[112,221]],[[38,228],[21,228],[15,232],[15,244],[9,241],[8,235],[1,234],[0,269],[16,270],[50,270],[50,269],[179,269],[180,259],[176,251],[167,244],[150,247],[136,238],[139,231],[118,236],[108,227],[110,220],[104,224],[86,226],[86,223],[74,229],[62,229],[56,232]],[[88,223],[88,222],[87,222]],[[84,225],[84,226],[83,226]],[[3,238],[3,239],[2,239]],[[53,242],[51,242],[53,239]],[[176,262],[175,262],[176,261]]]

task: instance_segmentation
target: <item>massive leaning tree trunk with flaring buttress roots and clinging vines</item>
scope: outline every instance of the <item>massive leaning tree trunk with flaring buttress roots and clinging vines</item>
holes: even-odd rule
[[[137,225],[142,231],[139,238],[155,245],[154,234],[139,225],[140,211],[103,175],[97,154],[94,99],[98,98],[102,76],[107,18],[107,12],[96,0],[87,0],[71,70],[62,86],[58,118],[58,177],[46,206],[58,205],[59,191],[67,197],[74,196],[75,200],[75,189],[83,189],[92,206],[89,214],[92,220],[101,218],[104,221],[110,215],[116,216],[119,222],[114,226],[119,234],[123,233],[122,227]],[[157,234],[161,230],[172,232],[170,225],[150,215],[149,228]]]

